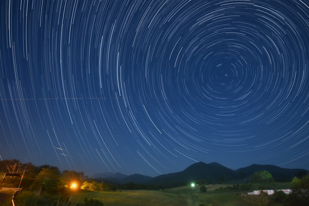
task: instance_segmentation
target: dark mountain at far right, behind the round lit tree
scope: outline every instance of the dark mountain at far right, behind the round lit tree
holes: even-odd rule
[[[252,164],[248,167],[242,167],[235,171],[244,172],[246,179],[251,179],[251,175],[253,175],[257,171],[268,171],[274,179],[280,179],[280,180],[286,180],[289,181],[293,179],[295,174],[297,174],[300,171],[305,171],[307,174],[309,174],[308,170],[304,169],[287,169],[287,168],[281,168],[275,165],[261,165],[261,164]]]

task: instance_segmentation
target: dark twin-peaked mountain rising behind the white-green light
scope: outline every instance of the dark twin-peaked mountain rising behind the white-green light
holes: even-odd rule
[[[231,181],[242,179],[239,172],[222,166],[219,163],[198,162],[190,165],[184,171],[159,175],[144,184],[166,184],[177,182],[190,182],[194,180],[206,180],[208,183],[229,183]]]

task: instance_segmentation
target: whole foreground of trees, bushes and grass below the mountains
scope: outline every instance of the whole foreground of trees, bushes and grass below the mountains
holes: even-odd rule
[[[24,170],[26,168],[26,170]],[[83,172],[60,171],[50,165],[35,166],[19,160],[0,161],[0,175],[6,176],[1,188],[20,188],[15,198],[18,206],[102,206],[106,205],[307,205],[309,175],[295,173],[289,182],[278,183],[267,171],[257,171],[246,183],[210,184],[211,180],[165,182],[164,184],[125,183],[89,179]],[[246,177],[244,174],[240,174]],[[2,179],[1,179],[2,180]],[[224,178],[221,178],[222,183]],[[191,183],[194,183],[191,185]],[[286,195],[280,189],[291,189]],[[253,190],[276,190],[273,195],[248,195]],[[14,191],[0,190],[0,206],[10,205]]]

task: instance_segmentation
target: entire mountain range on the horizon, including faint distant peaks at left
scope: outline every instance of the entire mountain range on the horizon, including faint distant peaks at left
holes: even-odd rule
[[[275,165],[260,165],[252,164],[248,167],[241,167],[236,170],[232,170],[219,163],[194,163],[183,171],[159,175],[156,177],[150,177],[146,175],[133,174],[123,175],[119,172],[114,173],[98,173],[91,178],[100,180],[110,180],[116,183],[141,183],[141,184],[172,184],[179,183],[184,184],[190,181],[205,180],[207,183],[244,183],[244,179],[250,179],[251,175],[256,171],[268,171],[274,179],[288,181],[292,179],[295,174],[299,172],[305,172],[309,174],[308,170],[305,169],[288,169],[282,168]],[[244,175],[241,175],[244,172]],[[105,177],[99,177],[99,175],[105,175]],[[96,178],[94,178],[96,177]]]

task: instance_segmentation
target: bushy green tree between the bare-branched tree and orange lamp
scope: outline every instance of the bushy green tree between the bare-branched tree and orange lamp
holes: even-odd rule
[[[42,187],[47,193],[53,193],[60,187],[60,176],[57,175],[57,171],[52,169],[43,168],[42,171],[36,176],[35,181],[30,186],[31,190],[36,190]]]

